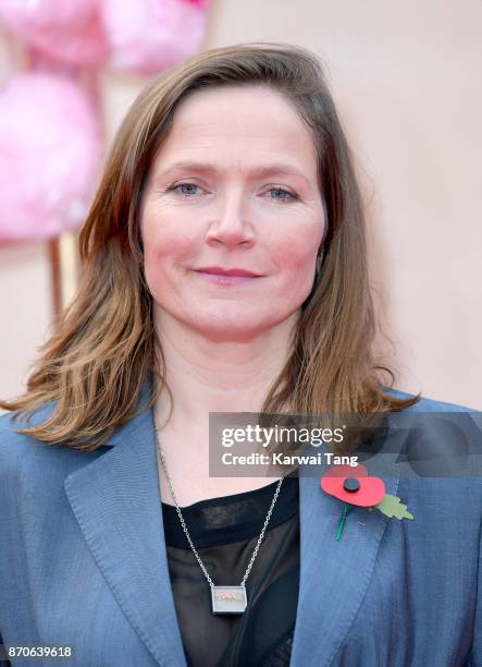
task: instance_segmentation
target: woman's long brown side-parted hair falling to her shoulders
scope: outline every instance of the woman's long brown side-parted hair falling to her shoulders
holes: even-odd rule
[[[379,377],[386,372],[393,386],[393,372],[374,359],[376,323],[362,201],[320,62],[301,47],[240,44],[205,51],[170,69],[132,105],[81,230],[77,293],[40,348],[25,393],[0,402],[30,416],[53,401],[44,423],[20,433],[90,451],[151,407],[164,385],[169,391],[144,276],[143,190],[177,102],[196,89],[230,85],[270,86],[294,105],[317,147],[327,220],[320,277],[302,305],[291,356],[261,412],[276,414],[289,404],[291,412],[305,415],[386,413],[419,400],[420,395],[391,396]],[[139,408],[148,378],[152,391]]]

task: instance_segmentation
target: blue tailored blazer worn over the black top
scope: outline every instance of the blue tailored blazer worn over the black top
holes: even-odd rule
[[[468,409],[422,399],[408,410]],[[3,643],[70,644],[67,664],[82,667],[185,667],[152,411],[92,452],[46,446],[15,427],[0,417]],[[319,475],[300,475],[291,665],[482,667],[482,480],[384,481],[413,521],[356,508],[335,541],[342,502],[320,489]]]

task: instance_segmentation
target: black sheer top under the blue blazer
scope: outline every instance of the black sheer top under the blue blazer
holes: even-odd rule
[[[193,543],[215,585],[239,585],[277,480],[261,488],[182,507]],[[287,475],[246,581],[244,614],[213,615],[211,589],[174,506],[162,502],[169,572],[189,667],[287,667],[299,587],[299,487]]]

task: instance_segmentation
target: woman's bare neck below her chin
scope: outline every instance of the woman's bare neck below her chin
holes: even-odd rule
[[[259,412],[284,367],[291,350],[297,313],[262,335],[239,341],[212,341],[164,312],[157,331],[173,396],[171,424],[198,428],[210,412]],[[169,399],[163,391],[155,407],[165,423]]]

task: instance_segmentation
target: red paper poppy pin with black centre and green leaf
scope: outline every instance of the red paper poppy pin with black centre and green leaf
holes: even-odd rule
[[[357,465],[334,465],[320,480],[321,488],[331,496],[345,502],[338,532],[339,539],[349,507],[356,505],[371,511],[373,508],[392,519],[413,519],[407,506],[398,496],[385,493],[385,483],[380,477],[372,477],[361,463]]]

